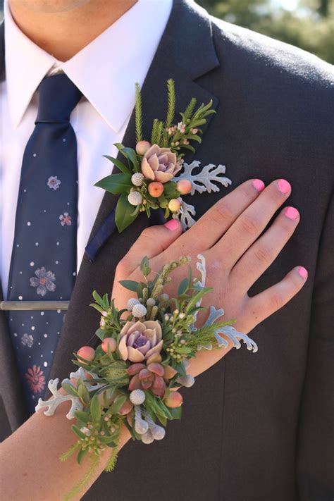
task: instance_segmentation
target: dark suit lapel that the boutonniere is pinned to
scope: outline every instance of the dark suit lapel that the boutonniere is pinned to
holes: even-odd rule
[[[142,86],[144,137],[150,138],[154,118],[164,120],[166,116],[166,80],[168,78],[175,80],[177,112],[186,108],[191,97],[197,99],[198,105],[213,99],[214,108],[216,108],[218,99],[194,80],[217,66],[218,59],[214,50],[209,18],[204,16],[202,9],[195,4],[187,0],[174,0],[171,17],[168,20],[166,30],[161,37],[156,55]],[[210,118],[211,116],[209,116]],[[209,120],[206,127],[203,128],[204,132],[208,125]],[[134,112],[123,137],[123,144],[130,147],[135,146]],[[108,151],[106,151],[106,154],[108,154]],[[187,151],[185,161],[189,162],[192,157],[193,154]],[[117,199],[118,197],[109,193],[104,195],[91,236],[94,235],[106,216],[113,210]],[[58,377],[60,381],[66,378],[70,371],[73,371],[70,354],[78,350],[80,346],[94,342],[94,331],[97,328],[99,316],[94,309],[89,308],[92,291],[97,290],[99,293],[111,292],[118,261],[128,252],[132,243],[137,240],[137,237],[147,225],[146,216],[141,214],[130,228],[127,228],[120,235],[115,233],[106,242],[94,263],[90,263],[87,256],[84,256],[75,282],[70,308],[59,336],[50,378]],[[4,316],[2,321],[4,323]],[[2,332],[1,338],[6,338],[6,336],[8,338],[6,326],[0,326],[0,330]],[[7,343],[3,352],[8,353],[10,350],[11,348]],[[7,378],[4,380],[5,385],[6,380],[10,381],[13,378],[13,371],[11,372],[11,375],[8,373]],[[6,377],[6,374],[4,374],[4,377]],[[12,425],[15,427],[16,423],[23,419],[19,389],[18,379],[15,378],[15,381],[11,383],[11,392],[8,392],[8,404],[6,404],[8,415],[15,414],[17,416]],[[49,390],[46,391],[45,397],[48,395]]]

